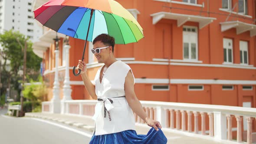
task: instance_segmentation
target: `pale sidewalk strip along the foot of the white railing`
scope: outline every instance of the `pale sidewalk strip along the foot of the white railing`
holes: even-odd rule
[[[74,115],[49,113],[26,113],[25,116],[53,120],[78,128],[83,128],[91,132],[94,129],[94,121],[92,120],[92,118],[86,116],[81,117]],[[138,134],[147,134],[149,129],[150,127],[146,124],[136,124],[136,132]],[[188,134],[186,134],[185,132],[183,134],[182,131],[170,130],[168,128],[162,128],[162,131],[168,139],[167,144],[221,144],[220,142],[213,141],[212,139],[207,138],[207,136],[202,136],[199,134],[196,134],[196,137],[188,136]]]

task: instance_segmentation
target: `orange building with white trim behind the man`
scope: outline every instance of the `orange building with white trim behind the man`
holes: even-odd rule
[[[46,0],[39,0],[42,2]],[[116,45],[114,55],[131,66],[139,100],[232,105],[256,108],[255,0],[117,0],[144,29],[138,43]],[[35,6],[36,7],[36,6]],[[45,29],[34,52],[43,57],[44,81],[53,97],[56,33]],[[59,45],[63,87],[65,52]],[[81,59],[81,39],[69,39],[69,65]],[[98,64],[86,48],[90,79]],[[81,76],[70,70],[72,99],[91,99]],[[62,98],[60,90],[60,98]],[[47,100],[46,99],[46,100]]]

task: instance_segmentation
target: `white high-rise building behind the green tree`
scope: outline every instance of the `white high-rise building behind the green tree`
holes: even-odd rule
[[[42,26],[34,20],[33,0],[0,0],[0,33],[13,29],[32,42],[43,34]]]

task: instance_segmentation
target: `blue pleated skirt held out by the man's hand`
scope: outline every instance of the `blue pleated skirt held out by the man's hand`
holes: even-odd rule
[[[93,134],[89,144],[166,144],[167,138],[163,131],[151,128],[147,135],[137,134],[134,130],[121,131],[113,134]]]

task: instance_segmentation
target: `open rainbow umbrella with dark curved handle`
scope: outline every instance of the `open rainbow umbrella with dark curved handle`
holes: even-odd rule
[[[58,33],[87,41],[102,33],[115,38],[116,44],[138,42],[143,29],[135,18],[115,0],[49,0],[34,11],[35,19]],[[73,73],[76,74],[75,66]]]

